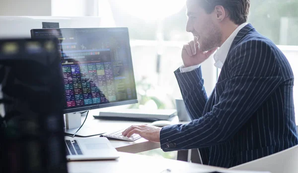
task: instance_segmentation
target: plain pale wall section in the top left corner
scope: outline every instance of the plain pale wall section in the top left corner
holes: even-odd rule
[[[51,15],[51,0],[0,0],[0,15]]]

